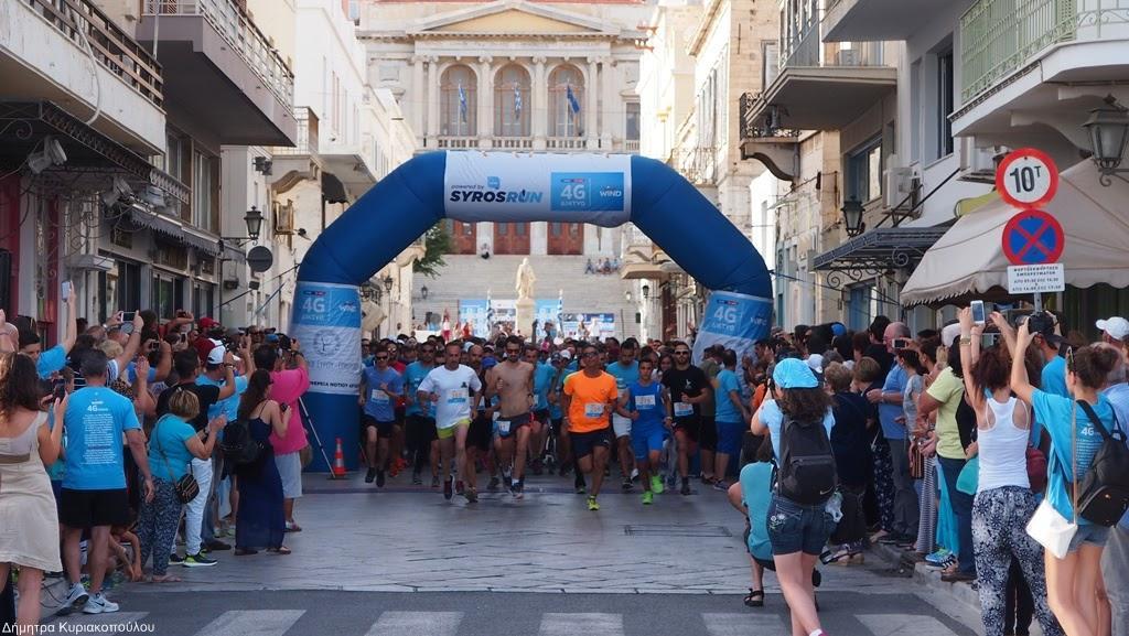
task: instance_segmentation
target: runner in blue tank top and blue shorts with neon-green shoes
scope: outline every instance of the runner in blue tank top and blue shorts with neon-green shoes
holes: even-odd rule
[[[663,454],[664,433],[673,426],[671,393],[662,383],[651,380],[655,363],[650,358],[639,360],[639,377],[623,390],[619,413],[631,420],[631,446],[634,450],[639,479],[642,481],[644,505],[655,500],[655,494],[663,493],[663,477],[659,473]]]

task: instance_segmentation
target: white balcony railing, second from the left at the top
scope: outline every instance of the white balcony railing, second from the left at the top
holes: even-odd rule
[[[146,0],[150,16],[202,16],[235,49],[286,107],[294,107],[294,72],[233,0]]]

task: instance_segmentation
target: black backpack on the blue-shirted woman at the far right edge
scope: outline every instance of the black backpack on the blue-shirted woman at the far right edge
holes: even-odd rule
[[[1094,455],[1089,470],[1078,483],[1078,516],[1106,528],[1117,525],[1129,509],[1129,446],[1126,434],[1118,427],[1118,416],[1113,416],[1113,433],[1102,426],[1093,407],[1078,400],[1091,424],[1102,435],[1102,446]]]

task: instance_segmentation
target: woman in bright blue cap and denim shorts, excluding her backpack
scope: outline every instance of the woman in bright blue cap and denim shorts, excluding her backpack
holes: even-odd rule
[[[785,420],[822,425],[830,438],[835,418],[831,395],[820,386],[815,374],[803,360],[786,358],[778,361],[772,371],[772,381],[776,399],[764,400],[753,415],[751,429],[753,435],[768,433],[771,436],[772,451],[779,463]],[[815,609],[812,572],[835,525],[826,511],[826,502],[815,505],[794,502],[781,495],[777,486],[769,504],[768,520],[777,578],[791,610],[793,636],[824,635]]]

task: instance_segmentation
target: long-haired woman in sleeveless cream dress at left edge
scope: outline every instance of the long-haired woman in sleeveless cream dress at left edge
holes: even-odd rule
[[[2,319],[0,319],[2,322]],[[0,332],[6,349],[10,334]],[[10,350],[0,354],[0,591],[12,565],[19,567],[16,625],[30,633],[40,622],[44,572],[60,572],[59,516],[51,479],[44,467],[59,459],[67,400],[54,402],[54,427],[40,409],[40,380],[32,358]]]

